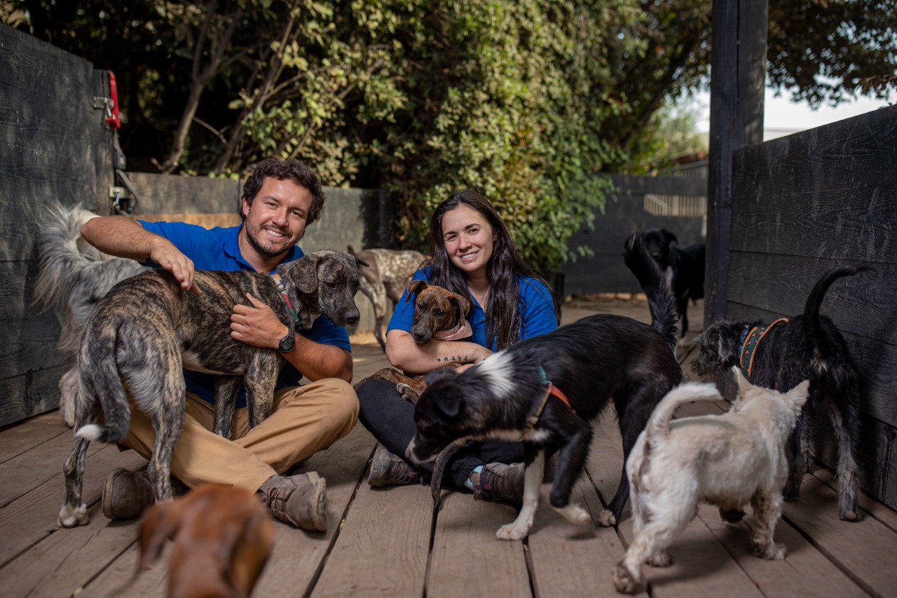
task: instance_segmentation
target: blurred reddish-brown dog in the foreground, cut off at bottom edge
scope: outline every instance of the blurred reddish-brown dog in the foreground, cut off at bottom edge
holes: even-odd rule
[[[248,490],[204,484],[144,515],[135,577],[152,566],[169,539],[171,598],[248,596],[271,555],[274,524]]]

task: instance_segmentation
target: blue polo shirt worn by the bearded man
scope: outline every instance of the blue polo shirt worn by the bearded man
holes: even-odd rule
[[[228,228],[216,227],[206,229],[196,224],[180,222],[146,222],[138,220],[147,231],[159,234],[174,243],[180,251],[193,260],[197,270],[248,270],[255,272],[255,268],[249,265],[239,252],[239,226]],[[292,248],[284,262],[300,259],[305,255],[299,246]],[[151,259],[147,259],[146,266],[159,268]],[[269,272],[273,274],[274,272]],[[325,316],[318,317],[310,330],[303,330],[302,336],[307,339],[325,345],[352,350],[349,344],[349,333],[342,326],[336,326]],[[287,361],[284,361],[280,376],[277,378],[276,388],[285,386],[298,386],[302,374]],[[184,370],[184,379],[187,381],[187,391],[194,392],[208,402],[214,402],[214,379],[212,374],[191,372]],[[246,407],[246,392],[239,391],[237,407]]]

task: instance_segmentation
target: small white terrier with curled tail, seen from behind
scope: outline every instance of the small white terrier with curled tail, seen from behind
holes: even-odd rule
[[[626,462],[632,497],[633,539],[614,567],[614,585],[631,593],[643,583],[642,565],[668,567],[676,534],[697,514],[698,503],[719,507],[731,523],[753,508],[753,553],[785,558],[772,540],[788,478],[785,443],[806,401],[809,383],[780,393],[748,383],[737,367],[738,398],[728,413],[670,421],[679,405],[718,400],[711,384],[686,383],[669,391],[651,414]]]

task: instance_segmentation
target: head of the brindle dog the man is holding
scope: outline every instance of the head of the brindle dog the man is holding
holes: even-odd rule
[[[316,295],[318,307],[337,326],[355,326],[361,317],[355,305],[358,292],[358,267],[368,264],[342,251],[315,251],[300,258],[303,263],[296,277],[302,293]]]

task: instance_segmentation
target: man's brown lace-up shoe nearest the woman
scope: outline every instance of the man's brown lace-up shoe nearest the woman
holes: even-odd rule
[[[277,519],[310,532],[327,530],[327,481],[314,471],[271,476],[258,491]]]

